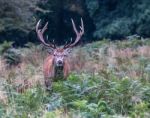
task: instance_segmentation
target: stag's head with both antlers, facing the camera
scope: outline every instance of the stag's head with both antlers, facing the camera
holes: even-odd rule
[[[68,43],[68,44],[66,43],[63,47],[57,47],[55,45],[54,41],[53,41],[53,43],[46,43],[45,42],[43,34],[47,29],[48,22],[45,24],[45,26],[42,29],[39,29],[39,25],[40,25],[41,20],[39,20],[37,25],[36,25],[36,32],[37,32],[38,38],[41,41],[41,43],[43,43],[44,46],[46,46],[48,48],[48,50],[49,50],[48,52],[50,53],[50,55],[53,56],[55,66],[63,66],[64,65],[64,60],[68,56],[70,49],[72,47],[74,47],[79,42],[82,35],[84,34],[84,24],[83,24],[82,18],[81,18],[81,26],[79,26],[80,31],[77,30],[73,19],[71,19],[71,21],[72,21],[73,30],[76,34],[76,39],[72,43],[72,38],[71,38],[70,43]]]

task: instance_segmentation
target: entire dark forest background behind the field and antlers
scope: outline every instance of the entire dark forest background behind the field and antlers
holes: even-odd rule
[[[71,18],[85,24],[82,42],[150,37],[150,0],[0,0],[0,43],[39,42],[35,25],[49,22],[46,35],[58,45],[74,37]]]

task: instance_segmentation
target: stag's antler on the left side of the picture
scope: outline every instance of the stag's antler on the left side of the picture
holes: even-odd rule
[[[47,46],[47,47],[50,47],[50,48],[53,48],[53,49],[56,48],[55,44],[51,44],[51,43],[48,44],[48,43],[46,43],[45,40],[44,40],[44,37],[43,37],[43,34],[44,34],[44,32],[46,31],[46,29],[47,29],[48,22],[45,24],[45,26],[44,26],[42,29],[39,29],[40,22],[41,22],[41,20],[39,20],[38,23],[36,24],[36,33],[37,33],[37,35],[38,35],[39,40],[40,40],[45,46]]]

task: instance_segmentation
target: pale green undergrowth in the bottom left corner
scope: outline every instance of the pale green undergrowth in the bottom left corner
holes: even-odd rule
[[[0,107],[1,116],[12,118],[27,118],[40,117],[42,110],[44,110],[44,97],[45,92],[40,86],[36,88],[28,89],[24,93],[17,93],[13,87],[9,84],[5,85],[8,94],[8,106],[3,105]],[[7,110],[5,110],[7,109]]]

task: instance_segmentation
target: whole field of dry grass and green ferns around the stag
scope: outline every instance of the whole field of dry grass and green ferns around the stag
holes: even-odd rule
[[[47,53],[41,46],[27,47],[16,49],[18,64],[9,66],[7,58],[0,57],[2,118],[150,117],[148,39],[76,47],[69,57],[72,73],[65,81],[53,82],[50,92],[45,91],[42,73]]]

